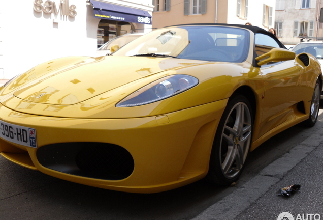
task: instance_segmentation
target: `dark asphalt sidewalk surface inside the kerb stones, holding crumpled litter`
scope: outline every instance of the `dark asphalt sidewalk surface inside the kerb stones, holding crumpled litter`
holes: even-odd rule
[[[321,130],[321,133],[323,133],[323,130]],[[322,140],[322,136],[319,139]],[[312,146],[308,146],[308,150],[312,148]],[[283,178],[272,185],[264,195],[234,219],[284,220],[283,216],[287,217],[290,213],[294,215],[294,220],[323,219],[322,167],[323,145],[319,144]],[[289,197],[276,195],[277,190],[290,184],[300,184],[301,188]],[[281,212],[287,213],[280,214]],[[288,217],[288,220],[293,220],[292,216]]]

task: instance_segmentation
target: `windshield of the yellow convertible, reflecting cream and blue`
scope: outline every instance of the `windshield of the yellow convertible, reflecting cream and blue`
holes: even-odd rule
[[[158,29],[123,46],[113,56],[171,56],[181,59],[243,62],[249,32],[223,26]]]

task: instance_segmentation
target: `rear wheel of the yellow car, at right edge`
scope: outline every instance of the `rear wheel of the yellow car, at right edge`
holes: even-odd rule
[[[317,79],[314,92],[312,95],[312,102],[311,102],[311,108],[310,108],[310,114],[306,121],[304,121],[305,126],[307,127],[313,127],[317,121],[318,112],[319,112],[319,104],[321,99],[321,82]]]

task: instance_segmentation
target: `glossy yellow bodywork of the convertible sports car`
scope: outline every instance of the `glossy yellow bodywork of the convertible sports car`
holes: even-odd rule
[[[1,155],[60,179],[133,193],[156,193],[204,178],[214,136],[234,95],[243,94],[252,106],[252,151],[307,120],[316,82],[322,85],[314,57],[303,54],[308,57],[305,65],[302,54],[293,57],[292,52],[278,48],[255,59],[254,33],[239,28],[249,33],[242,62],[69,57],[40,64],[13,78],[0,88]],[[170,41],[174,33],[162,33],[160,42]],[[188,43],[185,38],[181,46]],[[151,103],[116,106],[152,82],[176,75],[195,78],[198,84]],[[9,139],[19,126],[36,131],[37,145]],[[76,149],[84,143],[125,149],[133,159],[132,172],[119,179],[80,175],[74,165],[62,162],[60,152],[54,152],[56,146]],[[46,151],[53,151],[52,158],[44,156]],[[73,151],[72,156],[77,153]]]

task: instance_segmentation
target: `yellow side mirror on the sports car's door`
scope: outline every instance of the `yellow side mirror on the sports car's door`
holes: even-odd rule
[[[264,65],[269,62],[279,62],[279,61],[287,61],[295,59],[295,52],[283,49],[283,48],[273,48],[268,53],[265,53],[256,58],[258,65]]]

